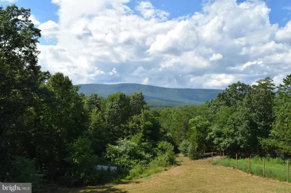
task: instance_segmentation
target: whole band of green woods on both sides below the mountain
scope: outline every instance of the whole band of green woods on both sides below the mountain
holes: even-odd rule
[[[266,77],[234,83],[200,106],[149,110],[142,92],[86,96],[68,76],[42,72],[40,30],[29,16],[0,8],[1,182],[32,182],[36,192],[137,178],[173,165],[178,149],[192,159],[215,150],[290,154],[291,74],[276,93]]]

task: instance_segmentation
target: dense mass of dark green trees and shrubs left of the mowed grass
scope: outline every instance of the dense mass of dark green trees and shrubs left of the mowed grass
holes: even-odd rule
[[[174,147],[143,93],[87,97],[64,74],[41,71],[41,34],[29,18],[30,10],[0,7],[0,181],[32,182],[37,191],[173,164]]]

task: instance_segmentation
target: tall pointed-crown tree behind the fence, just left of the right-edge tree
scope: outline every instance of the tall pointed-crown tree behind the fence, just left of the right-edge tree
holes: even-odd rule
[[[261,153],[259,139],[268,137],[275,118],[275,87],[270,77],[260,79],[253,87],[254,89],[246,94],[238,111],[240,112],[238,118],[241,121],[240,139],[243,139],[244,147],[248,147],[252,152]]]

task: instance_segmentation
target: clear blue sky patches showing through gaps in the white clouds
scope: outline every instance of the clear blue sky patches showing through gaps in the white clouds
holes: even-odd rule
[[[204,0],[205,1],[205,0]],[[238,3],[244,0],[237,0]],[[140,1],[131,0],[127,5],[134,10],[135,6]],[[48,20],[58,22],[58,10],[59,7],[51,3],[51,0],[17,0],[16,5],[18,7],[31,8],[32,14],[36,16],[36,19],[41,23]],[[203,0],[152,0],[152,5],[163,9],[170,13],[170,19],[181,15],[193,15],[194,12],[202,11]],[[279,26],[285,26],[291,19],[291,10],[284,9],[291,5],[290,0],[266,0],[269,8],[271,8],[270,22],[272,24],[278,23]],[[3,6],[11,4],[11,2],[1,2]],[[45,41],[41,38],[41,43],[45,45],[53,45],[53,41]]]

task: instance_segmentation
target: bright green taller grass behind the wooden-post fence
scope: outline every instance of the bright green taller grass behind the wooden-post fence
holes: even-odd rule
[[[214,165],[223,165],[223,159],[213,161]],[[236,160],[225,159],[226,167],[236,168]],[[248,172],[248,159],[238,159],[238,169],[243,172]],[[263,158],[253,157],[250,159],[250,174],[263,176]],[[265,158],[265,177],[287,181],[287,161],[280,158]],[[289,182],[291,179],[289,179]]]

